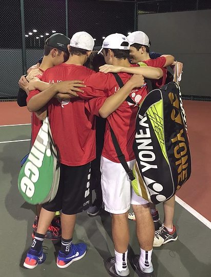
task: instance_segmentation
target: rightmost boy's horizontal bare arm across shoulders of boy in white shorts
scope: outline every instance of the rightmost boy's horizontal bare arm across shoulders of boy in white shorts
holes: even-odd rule
[[[129,67],[124,67],[124,66],[115,66],[115,65],[110,65],[110,64],[104,64],[99,67],[100,72],[103,73],[118,73],[118,72],[125,72],[125,73],[130,73],[130,74],[141,74],[143,75],[144,78],[149,78],[149,79],[160,79],[163,76],[163,72],[161,68],[158,67],[152,67],[152,66],[129,66]]]

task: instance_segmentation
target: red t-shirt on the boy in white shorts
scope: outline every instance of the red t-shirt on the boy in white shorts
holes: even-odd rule
[[[123,83],[126,83],[131,78],[131,74],[119,73]],[[104,101],[119,90],[119,85],[116,82],[113,74],[96,73],[90,78],[84,80],[86,88],[84,94],[79,94],[81,98],[89,100],[86,103],[87,109],[99,116],[99,109]],[[106,132],[104,135],[104,146],[102,156],[106,157],[115,163],[119,163],[116,150],[112,142],[110,126],[112,127],[122,153],[126,161],[135,158],[132,146],[135,137],[135,119],[138,111],[138,104],[146,96],[146,86],[135,88],[131,91],[130,97],[137,103],[131,104],[124,101],[110,116],[107,118]],[[109,126],[110,124],[110,126]]]

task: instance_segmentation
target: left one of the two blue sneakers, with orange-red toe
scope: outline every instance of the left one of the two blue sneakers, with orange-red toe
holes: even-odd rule
[[[46,254],[43,249],[38,253],[38,251],[29,249],[27,257],[24,262],[24,266],[29,269],[35,268],[38,264],[42,264],[46,260]]]

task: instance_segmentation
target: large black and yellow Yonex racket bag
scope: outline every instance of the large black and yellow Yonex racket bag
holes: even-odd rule
[[[170,199],[191,175],[185,112],[179,85],[152,90],[136,119],[136,164],[132,186],[137,195],[158,204]]]

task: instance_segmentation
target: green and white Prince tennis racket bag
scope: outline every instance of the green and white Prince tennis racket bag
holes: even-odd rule
[[[20,194],[31,204],[52,201],[58,190],[60,163],[48,117],[24,161],[18,176]]]

